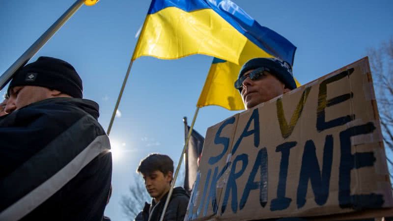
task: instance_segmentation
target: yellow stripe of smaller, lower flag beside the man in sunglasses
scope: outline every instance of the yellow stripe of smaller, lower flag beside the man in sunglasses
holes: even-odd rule
[[[240,93],[233,86],[240,67],[227,61],[212,64],[197,107],[218,105],[230,111],[244,110]]]

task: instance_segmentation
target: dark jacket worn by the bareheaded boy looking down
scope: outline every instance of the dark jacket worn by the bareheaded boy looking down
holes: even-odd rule
[[[154,202],[154,199],[152,199],[151,205],[145,203],[143,210],[135,218],[135,221],[159,221],[167,197],[168,193],[165,194],[157,204]],[[182,187],[174,188],[172,196],[170,197],[167,212],[164,216],[164,221],[183,221],[189,200],[190,196]]]

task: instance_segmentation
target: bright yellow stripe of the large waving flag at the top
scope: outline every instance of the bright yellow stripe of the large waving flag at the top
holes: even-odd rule
[[[273,57],[212,9],[186,12],[167,7],[147,15],[132,59],[140,56],[177,59],[194,54],[215,56],[235,64],[243,64],[255,55]]]

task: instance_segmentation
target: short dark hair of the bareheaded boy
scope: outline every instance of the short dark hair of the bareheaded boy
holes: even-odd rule
[[[137,173],[150,174],[156,170],[161,171],[165,175],[168,172],[173,173],[173,161],[164,154],[153,153],[140,161]]]

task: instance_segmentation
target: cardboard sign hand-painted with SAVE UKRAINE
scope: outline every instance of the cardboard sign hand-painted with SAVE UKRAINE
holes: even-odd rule
[[[393,207],[373,91],[365,57],[210,127],[185,220]]]

